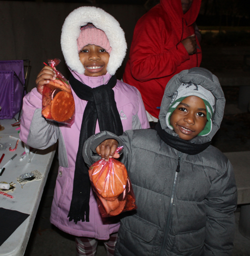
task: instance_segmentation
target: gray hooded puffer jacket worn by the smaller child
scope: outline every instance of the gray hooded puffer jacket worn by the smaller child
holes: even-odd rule
[[[165,115],[181,82],[200,84],[216,98],[211,133],[189,141],[207,143],[219,128],[225,99],[217,77],[206,69],[184,70],[168,82],[161,127],[177,137],[167,128]],[[138,207],[121,219],[116,256],[231,254],[237,192],[232,166],[219,150],[208,146],[196,155],[184,154],[164,143],[154,130],[126,131],[120,137],[102,132],[84,145],[88,165],[99,159],[96,146],[111,138],[124,146],[120,161],[127,168]]]

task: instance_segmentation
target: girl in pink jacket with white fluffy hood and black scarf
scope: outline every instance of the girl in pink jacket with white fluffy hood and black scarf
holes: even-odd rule
[[[113,255],[119,221],[101,218],[81,150],[95,133],[107,130],[119,136],[126,130],[147,129],[148,120],[139,91],[115,78],[126,42],[112,16],[95,7],[75,9],[62,26],[61,49],[71,72],[74,122],[65,126],[41,116],[43,85],[55,79],[54,70],[45,66],[37,76],[37,87],[23,99],[20,139],[36,149],[58,141],[50,222],[77,236],[77,255],[94,255],[98,239],[105,240],[107,255]]]

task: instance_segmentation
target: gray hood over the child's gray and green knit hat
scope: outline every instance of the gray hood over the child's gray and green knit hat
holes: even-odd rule
[[[212,130],[207,136],[197,136],[189,142],[195,144],[204,144],[210,142],[212,137],[218,131],[220,123],[223,118],[225,98],[222,88],[219,84],[218,78],[213,75],[209,70],[205,68],[191,68],[189,70],[183,70],[180,73],[173,76],[166,85],[164,95],[160,105],[159,122],[162,129],[168,134],[178,137],[172,130],[166,126],[166,113],[170,106],[171,96],[178,89],[181,83],[195,83],[199,84],[205,89],[211,91],[215,97],[215,109],[212,116]]]

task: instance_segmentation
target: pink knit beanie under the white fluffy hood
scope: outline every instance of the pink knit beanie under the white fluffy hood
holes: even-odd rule
[[[80,28],[80,35],[77,39],[78,52],[88,44],[102,47],[109,55],[112,50],[105,33],[91,23]]]

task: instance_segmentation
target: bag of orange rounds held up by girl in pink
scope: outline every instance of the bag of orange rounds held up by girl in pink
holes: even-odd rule
[[[50,67],[59,64],[59,59],[48,60]],[[71,125],[74,120],[74,98],[65,77],[56,69],[56,79],[50,80],[42,90],[41,114],[47,120]]]

